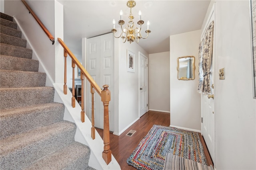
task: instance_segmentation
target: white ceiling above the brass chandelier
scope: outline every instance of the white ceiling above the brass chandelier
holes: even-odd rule
[[[58,0],[64,6],[64,42],[80,58],[82,38],[90,38],[111,32],[113,19],[117,24],[120,10],[128,23],[130,8],[127,0]],[[132,8],[134,23],[142,12],[142,33],[152,31],[147,39],[140,39],[139,45],[149,54],[170,51],[170,35],[201,29],[210,0],[136,0]],[[128,42],[126,42],[128,43]],[[135,42],[133,42],[135,43]]]

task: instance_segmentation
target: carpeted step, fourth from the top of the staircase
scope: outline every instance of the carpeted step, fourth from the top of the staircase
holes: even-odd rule
[[[0,33],[0,34],[1,34],[0,35],[1,36],[0,37],[1,43],[14,45],[14,46],[18,46],[18,47],[24,47],[24,48],[27,47],[27,40],[26,39],[6,35],[4,33]]]

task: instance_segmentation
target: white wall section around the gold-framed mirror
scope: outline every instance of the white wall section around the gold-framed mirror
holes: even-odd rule
[[[170,125],[200,131],[201,103],[198,89],[200,30],[170,36]],[[195,79],[177,79],[177,58],[195,57]]]

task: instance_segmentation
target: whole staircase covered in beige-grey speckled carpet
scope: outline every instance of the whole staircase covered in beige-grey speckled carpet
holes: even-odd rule
[[[76,125],[64,121],[64,105],[13,18],[0,21],[0,169],[86,169],[90,148],[74,141]]]

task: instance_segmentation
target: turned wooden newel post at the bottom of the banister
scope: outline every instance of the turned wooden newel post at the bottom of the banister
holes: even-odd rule
[[[104,106],[104,131],[103,131],[103,142],[104,151],[102,152],[102,158],[107,164],[111,162],[111,150],[110,150],[110,136],[109,136],[109,119],[108,119],[108,105],[110,101],[110,91],[108,90],[108,85],[103,86],[101,91],[101,101]]]

